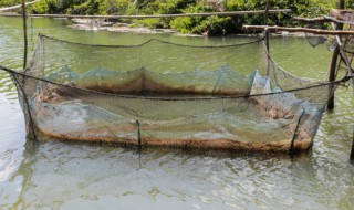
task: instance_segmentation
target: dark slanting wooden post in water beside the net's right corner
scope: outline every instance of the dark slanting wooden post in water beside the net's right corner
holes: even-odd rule
[[[345,7],[345,0],[339,0],[339,8],[342,10]],[[343,24],[339,23],[335,28],[335,30],[343,30]],[[329,82],[335,81],[335,70],[336,70],[336,63],[340,55],[340,46],[337,45],[332,54],[331,64],[330,64],[330,74],[329,74]],[[327,104],[327,109],[332,111],[334,108],[334,93],[333,90],[330,90],[330,99]]]

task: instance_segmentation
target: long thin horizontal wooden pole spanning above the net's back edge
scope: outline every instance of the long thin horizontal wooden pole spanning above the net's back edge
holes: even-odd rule
[[[269,10],[270,13],[291,12],[290,9]],[[156,15],[74,15],[74,14],[28,14],[33,18],[80,18],[80,19],[146,19],[146,18],[178,18],[178,17],[230,17],[266,13],[266,10],[233,11],[233,12],[207,12],[207,13],[184,13],[184,14],[156,14]],[[20,17],[21,14],[3,13],[0,17]]]

